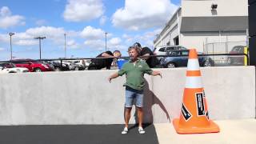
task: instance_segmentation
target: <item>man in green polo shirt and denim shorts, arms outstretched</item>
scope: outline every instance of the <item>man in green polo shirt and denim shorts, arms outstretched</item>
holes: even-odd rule
[[[138,58],[138,54],[140,49],[138,47],[133,46],[128,49],[128,53],[130,56],[130,61],[126,62],[122,69],[117,73],[110,75],[109,81],[111,79],[117,78],[118,76],[122,76],[126,74],[126,110],[125,110],[125,128],[122,130],[122,134],[128,133],[128,123],[130,120],[130,111],[133,106],[133,101],[136,99],[136,109],[138,110],[138,133],[145,134],[145,130],[142,128],[143,121],[143,88],[145,86],[144,82],[144,74],[150,75],[160,75],[162,78],[162,74],[160,71],[150,70],[150,67],[146,64],[146,62],[142,59]]]

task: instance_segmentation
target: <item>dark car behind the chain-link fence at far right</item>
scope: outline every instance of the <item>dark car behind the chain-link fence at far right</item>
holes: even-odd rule
[[[244,54],[246,46],[234,46],[229,54]],[[227,63],[231,65],[244,65],[244,55],[234,55],[227,58]]]

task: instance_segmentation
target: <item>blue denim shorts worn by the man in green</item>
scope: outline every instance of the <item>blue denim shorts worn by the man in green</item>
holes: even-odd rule
[[[132,107],[136,100],[137,107],[143,107],[143,90],[134,90],[126,86],[126,107]]]

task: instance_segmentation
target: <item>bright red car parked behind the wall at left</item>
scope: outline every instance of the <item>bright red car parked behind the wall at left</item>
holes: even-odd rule
[[[17,67],[26,67],[30,72],[53,71],[48,64],[33,62],[32,60],[30,62],[29,60],[31,59],[15,59],[11,62],[13,62]]]

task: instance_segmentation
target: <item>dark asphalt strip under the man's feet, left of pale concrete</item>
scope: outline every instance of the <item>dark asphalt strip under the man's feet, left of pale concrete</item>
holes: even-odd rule
[[[154,125],[146,125],[146,134],[138,134],[138,126],[130,125],[53,125],[0,126],[1,144],[157,144]]]

